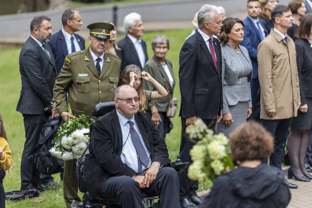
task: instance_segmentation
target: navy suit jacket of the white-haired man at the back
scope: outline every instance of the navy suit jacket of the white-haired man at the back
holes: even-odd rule
[[[127,35],[123,39],[118,41],[117,45],[119,48],[122,49],[120,56],[118,55],[119,58],[121,59],[121,64],[122,64],[120,68],[120,72],[124,70],[124,67],[130,64],[137,65],[141,69],[143,69],[139,60],[139,56],[135,50],[135,47]],[[142,47],[143,47],[143,51],[145,54],[145,62],[146,62],[148,60],[148,56],[147,56],[147,51],[146,51],[146,43],[143,40],[142,40]]]

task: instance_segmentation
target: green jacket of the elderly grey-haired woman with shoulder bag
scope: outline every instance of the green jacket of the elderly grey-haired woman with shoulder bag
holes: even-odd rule
[[[158,67],[155,65],[155,63],[152,60],[149,59],[145,63],[143,71],[148,72],[156,81],[158,81],[166,89],[165,82],[163,81],[163,77],[164,77],[166,82],[167,82],[167,85],[168,85],[168,89],[169,89],[168,93],[170,94],[170,96],[172,98],[175,81],[174,81],[173,86],[171,87],[170,82],[169,82],[169,78],[168,78],[165,70],[163,69],[163,66],[160,64],[160,61],[155,57],[155,55],[151,59],[153,59],[156,62]],[[169,67],[169,70],[171,72],[173,80],[175,80],[174,79],[174,75],[173,75],[171,61],[168,60],[168,59],[165,59],[165,61],[166,61],[167,65],[168,65],[168,67]],[[163,75],[163,77],[162,77],[162,75]],[[156,88],[151,83],[149,83],[147,81],[144,81],[144,89],[147,89],[147,90],[150,90],[150,91],[157,91]],[[155,100],[152,100],[149,103],[148,107],[151,107],[151,106],[155,105],[159,112],[166,112],[167,108],[168,108],[168,105],[169,105],[169,101],[170,100],[169,100],[168,96],[164,97],[164,98],[161,98],[161,99],[155,99]]]

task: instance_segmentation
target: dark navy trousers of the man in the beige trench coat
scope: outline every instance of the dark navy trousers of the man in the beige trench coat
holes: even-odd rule
[[[290,119],[265,120],[261,124],[274,137],[274,152],[270,155],[270,165],[282,167],[283,144],[286,143]]]

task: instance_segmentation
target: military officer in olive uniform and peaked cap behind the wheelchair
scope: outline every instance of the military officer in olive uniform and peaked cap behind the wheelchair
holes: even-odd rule
[[[96,104],[114,100],[115,89],[121,83],[120,59],[115,54],[104,52],[114,26],[97,22],[87,28],[90,29],[90,47],[66,56],[53,89],[57,112],[64,121],[80,114],[91,118]],[[68,113],[66,90],[73,115]],[[72,200],[81,201],[77,195],[75,167],[76,160],[65,161],[63,185],[68,208],[71,208]]]

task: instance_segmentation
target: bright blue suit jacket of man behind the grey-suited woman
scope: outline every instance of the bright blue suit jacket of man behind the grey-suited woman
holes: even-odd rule
[[[267,36],[269,34],[268,31],[262,25],[261,22],[260,24],[264,28],[265,30],[264,32]],[[242,41],[240,45],[245,46],[248,50],[248,54],[249,54],[249,57],[251,59],[251,64],[252,64],[252,79],[258,79],[257,48],[261,42],[260,34],[255,24],[251,21],[249,17],[246,17],[246,19],[244,19],[244,26],[245,26],[244,27],[244,30],[245,30],[244,41]]]

